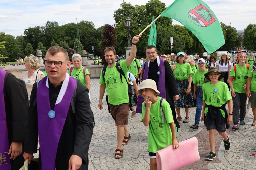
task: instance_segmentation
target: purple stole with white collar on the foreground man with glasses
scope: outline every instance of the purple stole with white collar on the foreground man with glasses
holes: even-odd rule
[[[65,124],[70,102],[75,90],[76,79],[66,74],[58,95],[54,118],[49,118],[51,110],[48,89],[48,76],[44,77],[37,88],[38,136],[42,170],[54,170],[59,139]],[[63,98],[62,98],[63,97]]]

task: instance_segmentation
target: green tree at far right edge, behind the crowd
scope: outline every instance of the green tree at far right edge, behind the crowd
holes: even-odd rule
[[[256,50],[256,24],[249,24],[244,29],[244,39],[243,39],[243,45],[248,50]]]

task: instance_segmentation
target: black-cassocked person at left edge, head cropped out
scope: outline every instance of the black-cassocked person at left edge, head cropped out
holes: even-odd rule
[[[1,86],[3,84],[3,87],[1,87],[3,93],[0,93],[0,97],[4,98],[4,106],[0,105],[0,107],[5,107],[5,113],[2,113],[6,114],[11,169],[19,170],[24,164],[23,142],[25,140],[28,111],[22,87],[16,77],[13,74],[6,73],[3,69],[0,69],[0,72],[2,73],[1,75],[5,74],[5,76],[0,75]],[[0,169],[2,169],[1,163],[3,163],[4,159],[1,152],[0,156]]]

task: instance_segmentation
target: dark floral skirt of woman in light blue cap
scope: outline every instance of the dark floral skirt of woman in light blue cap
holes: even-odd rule
[[[178,108],[194,107],[192,92],[190,91],[190,94],[187,95],[187,88],[189,84],[188,79],[176,80],[176,82],[178,85],[180,98],[177,101],[174,101],[175,107],[178,107]]]

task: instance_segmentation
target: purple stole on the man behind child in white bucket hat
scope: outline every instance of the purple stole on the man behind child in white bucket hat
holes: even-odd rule
[[[159,79],[158,79],[158,91],[160,92],[160,94],[158,96],[166,99],[166,92],[165,92],[165,62],[161,57],[157,56],[157,65],[158,65],[158,69],[159,69]],[[145,69],[144,69],[144,75],[142,78],[143,80],[148,79],[148,71],[149,71],[149,65],[150,65],[150,61],[148,61],[145,64]],[[156,82],[157,83],[157,82]],[[144,102],[144,98],[139,95],[138,97],[138,101],[137,101],[137,107],[136,107],[136,113],[142,113],[142,103]]]

